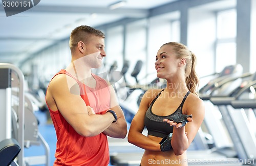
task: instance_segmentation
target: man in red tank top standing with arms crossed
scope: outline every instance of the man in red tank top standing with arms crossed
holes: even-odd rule
[[[93,27],[76,27],[70,35],[71,63],[48,86],[46,102],[57,135],[54,165],[108,165],[106,135],[126,136],[113,87],[91,72],[106,56],[104,37]]]

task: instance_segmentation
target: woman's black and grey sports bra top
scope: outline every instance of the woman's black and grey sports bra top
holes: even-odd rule
[[[157,136],[157,137],[164,137],[167,134],[173,132],[174,127],[170,126],[166,122],[163,122],[163,119],[166,119],[166,118],[168,118],[170,116],[173,116],[175,114],[182,114],[183,104],[184,104],[188,94],[190,93],[190,91],[188,91],[186,93],[186,95],[184,96],[181,104],[175,110],[175,112],[173,114],[170,114],[168,116],[158,116],[158,115],[155,115],[154,113],[152,113],[152,106],[153,106],[154,102],[156,101],[156,99],[160,96],[161,92],[159,92],[159,94],[156,96],[156,98],[150,104],[150,107],[148,107],[148,109],[146,111],[145,118],[144,118],[144,124],[145,124],[145,127],[147,128],[147,134]]]

